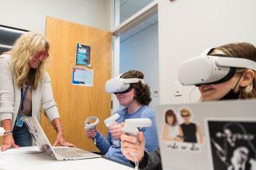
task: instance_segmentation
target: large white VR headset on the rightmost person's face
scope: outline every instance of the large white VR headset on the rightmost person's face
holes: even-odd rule
[[[256,62],[245,58],[225,55],[207,55],[211,49],[203,51],[178,66],[178,81],[182,85],[218,84],[230,80],[236,69],[253,69]]]

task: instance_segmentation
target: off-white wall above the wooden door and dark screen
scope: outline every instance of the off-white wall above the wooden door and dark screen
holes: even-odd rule
[[[1,1],[0,24],[45,34],[46,16],[110,30],[111,0]]]

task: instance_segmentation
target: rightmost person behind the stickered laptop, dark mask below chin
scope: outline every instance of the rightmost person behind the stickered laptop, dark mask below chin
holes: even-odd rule
[[[256,65],[256,48],[249,43],[236,43],[222,45],[211,49],[207,55],[218,57],[237,57],[254,61]],[[220,101],[220,100],[238,100],[238,99],[255,99],[256,98],[256,74],[255,69],[242,63],[244,68],[230,67],[230,72],[226,77],[206,84],[194,85],[202,95],[202,101]],[[190,72],[189,72],[190,73]],[[188,73],[188,74],[189,74]],[[193,75],[188,75],[193,76]],[[192,85],[192,84],[191,84]],[[138,142],[137,142],[138,139]],[[133,152],[139,161],[141,169],[162,169],[159,148],[153,152],[144,151],[145,138],[142,132],[138,133],[137,138],[134,136],[121,136],[122,153],[128,160],[134,161]],[[170,160],[171,161],[171,160]]]

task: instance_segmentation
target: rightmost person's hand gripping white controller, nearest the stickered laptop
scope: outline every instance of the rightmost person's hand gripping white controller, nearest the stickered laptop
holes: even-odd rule
[[[122,134],[121,151],[128,160],[134,162],[134,156],[141,162],[144,157],[145,140],[142,132],[138,132],[137,137]]]

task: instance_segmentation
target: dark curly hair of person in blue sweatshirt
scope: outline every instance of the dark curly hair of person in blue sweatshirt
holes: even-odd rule
[[[126,73],[123,73],[121,78],[144,78],[144,74],[138,70],[130,70]],[[133,88],[135,92],[134,99],[142,105],[149,105],[152,98],[150,97],[150,86],[143,84],[142,81],[138,83],[133,83]]]

